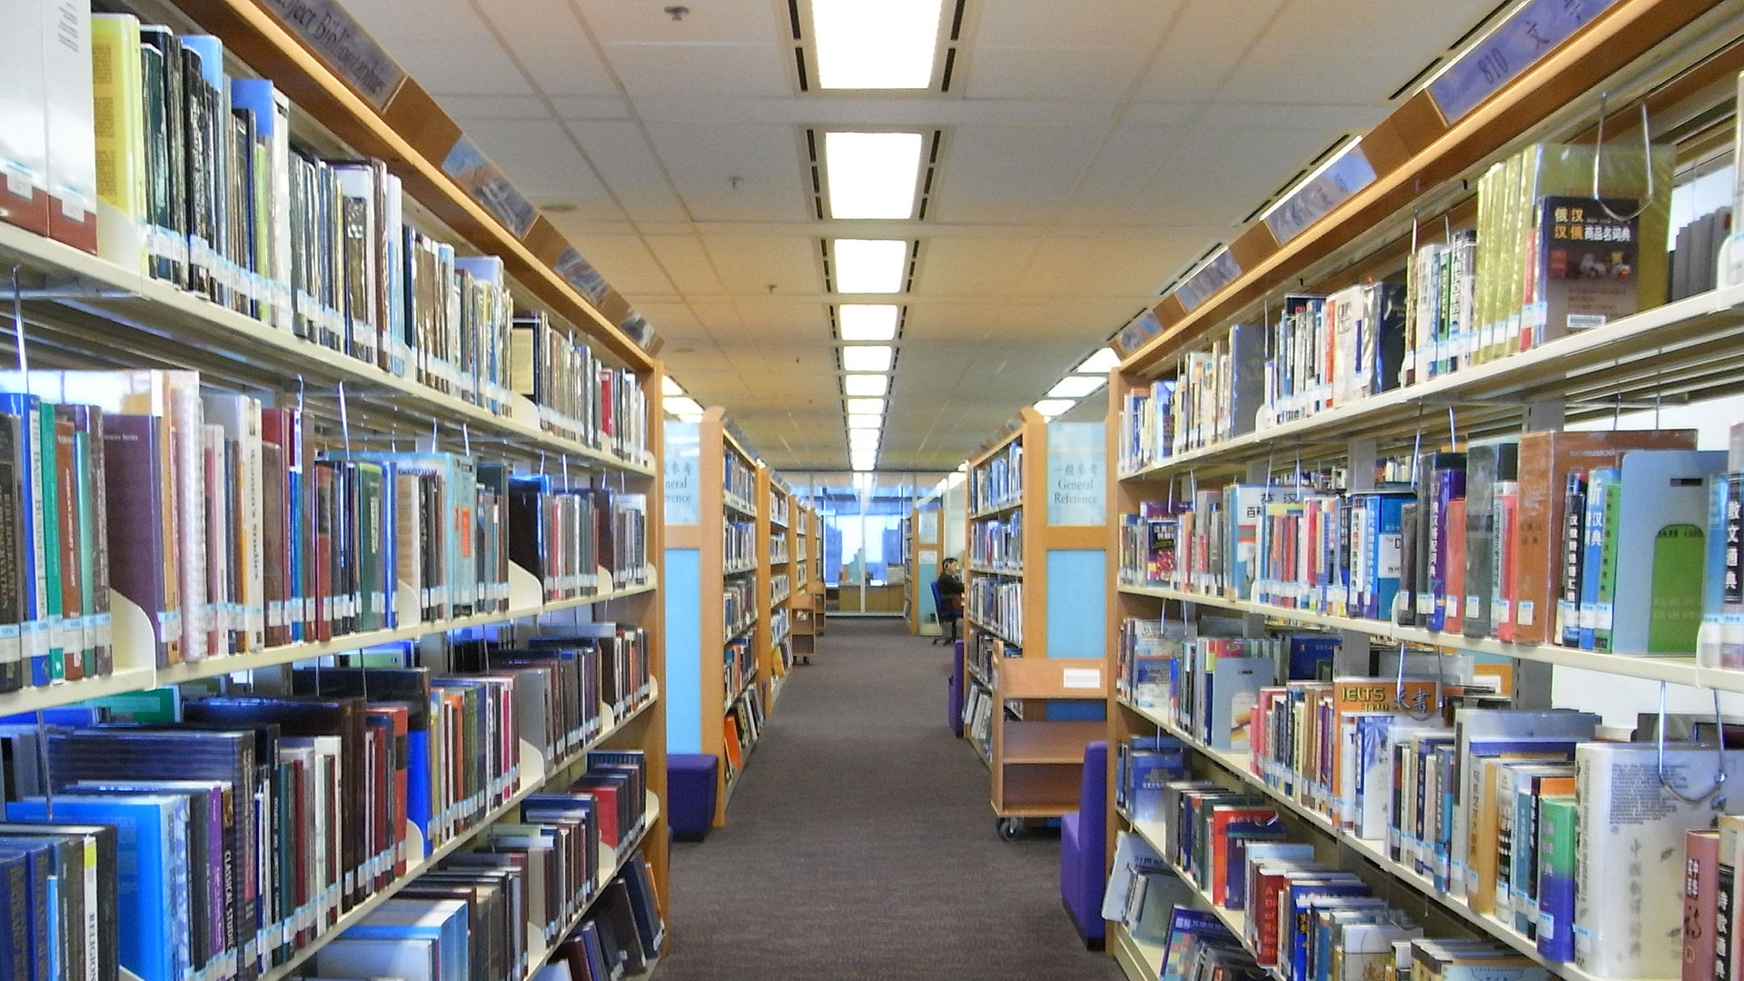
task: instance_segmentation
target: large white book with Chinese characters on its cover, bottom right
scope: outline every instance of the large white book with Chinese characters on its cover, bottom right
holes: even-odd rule
[[[1685,831],[1707,827],[1716,772],[1744,780],[1744,751],[1582,744],[1575,751],[1575,965],[1599,978],[1681,971]],[[1686,803],[1669,789],[1676,789]]]

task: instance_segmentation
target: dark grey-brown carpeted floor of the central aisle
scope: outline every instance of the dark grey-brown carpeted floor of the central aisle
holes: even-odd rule
[[[1003,843],[950,735],[944,644],[832,620],[727,826],[675,843],[659,981],[1118,979],[1060,906],[1057,833]]]

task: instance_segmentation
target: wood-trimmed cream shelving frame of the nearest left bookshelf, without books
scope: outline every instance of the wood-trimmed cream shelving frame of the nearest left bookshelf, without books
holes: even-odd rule
[[[80,7],[80,5],[73,5]],[[218,642],[206,656],[164,656],[153,641],[152,621],[134,616],[129,621],[129,600],[120,592],[119,580],[98,581],[96,588],[110,597],[113,623],[113,670],[91,674],[84,679],[56,679],[51,684],[26,686],[0,693],[0,714],[21,716],[61,707],[84,707],[91,700],[150,693],[180,688],[188,700],[199,693],[249,688],[262,693],[290,691],[295,667],[333,663],[333,658],[363,651],[364,648],[394,646],[399,651],[417,648],[417,662],[424,651],[439,651],[450,641],[527,639],[544,625],[574,627],[581,623],[616,621],[644,630],[642,651],[649,672],[647,686],[616,709],[600,705],[602,724],[584,744],[577,740],[569,752],[546,758],[523,744],[518,780],[502,789],[497,806],[483,810],[467,829],[446,834],[431,850],[417,848],[406,855],[405,873],[391,876],[368,890],[335,916],[324,930],[312,934],[262,976],[267,981],[295,978],[305,972],[309,960],[344,930],[364,920],[384,901],[392,899],[455,852],[467,850],[492,824],[513,820],[521,801],[541,791],[563,791],[586,770],[588,752],[598,749],[640,751],[647,761],[647,792],[642,824],[626,836],[623,848],[602,862],[600,880],[607,883],[623,868],[631,852],[642,852],[654,873],[661,908],[666,908],[668,834],[663,817],[666,796],[666,702],[664,702],[664,648],[659,611],[663,602],[663,438],[657,421],[661,408],[661,363],[619,323],[630,321],[628,304],[609,288],[586,297],[560,272],[569,244],[542,216],[534,215],[530,227],[509,229],[487,206],[476,201],[469,189],[443,173],[441,164],[457,141],[455,126],[434,106],[427,94],[410,77],[403,77],[394,96],[371,105],[352,89],[328,61],[295,35],[274,14],[274,5],[253,0],[190,0],[167,3],[141,0],[140,3],[105,5],[127,9],[148,23],[169,24],[176,37],[213,35],[225,52],[221,70],[237,79],[270,80],[277,93],[288,98],[288,143],[309,157],[385,161],[380,173],[403,182],[406,201],[405,222],[420,236],[457,251],[501,260],[502,286],[513,297],[513,309],[534,311],[551,330],[565,333],[567,340],[584,346],[598,367],[619,372],[619,384],[635,382],[645,400],[621,403],[623,415],[616,429],[602,428],[605,438],[589,436],[574,417],[563,415],[549,401],[535,403],[532,382],[521,386],[513,372],[504,370],[492,379],[497,388],[487,391],[478,377],[448,377],[446,384],[420,381],[415,372],[398,372],[385,360],[364,360],[300,337],[284,323],[269,323],[270,293],[267,274],[248,278],[239,271],[223,272],[225,290],[253,292],[260,318],[241,312],[249,304],[221,305],[202,293],[185,290],[171,281],[146,276],[143,244],[129,255],[126,236],[120,246],[108,241],[92,255],[63,241],[40,236],[16,225],[0,223],[0,265],[12,274],[5,297],[12,311],[12,330],[7,353],[26,361],[37,372],[106,370],[120,372],[197,372],[201,394],[246,394],[265,408],[293,410],[302,424],[302,440],[310,447],[310,459],[321,454],[324,461],[342,461],[352,456],[415,454],[466,459],[471,464],[501,464],[508,477],[546,475],[549,487],[567,490],[610,490],[617,496],[644,499],[645,557],[630,569],[598,567],[582,574],[574,571],[577,583],[565,585],[551,595],[541,588],[541,573],[509,560],[506,552],[513,525],[494,546],[504,550],[501,583],[501,609],[488,613],[455,613],[452,616],[424,616],[417,602],[410,609],[389,606],[398,614],[398,625],[344,632],[335,628],[330,639],[293,642]],[[70,26],[82,44],[91,42],[91,26],[80,21]],[[21,42],[19,38],[9,38]],[[89,65],[89,52],[85,52]],[[398,70],[396,70],[398,72]],[[66,79],[72,82],[72,79]],[[225,106],[228,108],[228,106]],[[180,108],[178,108],[180,112]],[[228,112],[225,113],[228,117]],[[216,194],[216,192],[215,192]],[[385,190],[384,190],[385,194]],[[288,201],[274,199],[277,208]],[[274,215],[277,216],[277,215]],[[105,216],[108,222],[108,216]],[[141,227],[133,227],[127,215],[119,215],[117,227],[131,227],[134,237],[143,237]],[[398,232],[398,229],[394,229]],[[385,236],[385,232],[384,232]],[[181,241],[187,246],[187,241]],[[256,243],[249,243],[253,248]],[[317,250],[319,251],[319,250]],[[199,253],[195,253],[199,258]],[[331,258],[331,257],[324,257]],[[335,260],[335,269],[338,262]],[[382,279],[370,279],[356,269],[345,269],[349,283],[387,292],[385,267],[373,267]],[[307,297],[298,298],[305,302]],[[508,311],[504,311],[508,312]],[[502,319],[508,326],[508,318]],[[385,337],[392,326],[377,325]],[[358,325],[349,325],[352,342]],[[504,344],[508,335],[502,337]],[[345,344],[340,344],[345,347]],[[508,365],[509,353],[501,354]],[[24,375],[24,386],[35,386],[38,377]],[[497,384],[501,382],[501,384]],[[596,384],[595,379],[586,379]],[[467,386],[474,386],[471,393]],[[623,394],[623,393],[619,393]],[[44,401],[54,398],[42,396]],[[72,401],[72,400],[68,400]],[[607,398],[610,403],[610,398]],[[129,408],[129,412],[140,412]],[[113,415],[112,415],[113,417]],[[169,415],[164,415],[167,431]],[[208,415],[208,422],[211,415]],[[180,424],[180,422],[178,422]],[[640,436],[635,436],[640,433]],[[260,436],[260,433],[253,433]],[[621,436],[614,445],[612,436]],[[166,436],[167,438],[167,436]],[[239,443],[249,447],[244,436]],[[258,447],[258,443],[255,443]],[[272,443],[277,445],[277,443]],[[286,447],[281,447],[286,449]],[[546,466],[549,464],[549,470]],[[556,473],[562,473],[558,477]],[[101,480],[101,475],[92,475]],[[167,496],[169,473],[162,473]],[[192,487],[192,485],[190,485]],[[195,494],[199,497],[199,494]],[[216,499],[223,499],[218,492]],[[307,503],[305,503],[307,504]],[[501,501],[508,510],[508,501]],[[225,511],[225,520],[235,527],[253,515]],[[309,522],[312,511],[284,515],[286,525]],[[202,525],[204,527],[204,525]],[[256,536],[269,536],[270,525],[249,525]],[[188,529],[183,529],[188,531]],[[218,534],[216,531],[213,532]],[[471,534],[471,532],[469,532]],[[483,534],[483,532],[480,532]],[[176,573],[190,545],[192,532],[166,541],[166,553],[174,553]],[[628,546],[630,543],[621,543]],[[103,543],[98,543],[103,548]],[[467,550],[471,559],[471,550]],[[120,555],[110,564],[113,571]],[[356,559],[356,557],[352,557]],[[433,559],[434,562],[434,559]],[[405,573],[403,569],[399,573]],[[445,569],[459,574],[457,569]],[[401,588],[412,593],[401,576]],[[234,583],[230,583],[232,588]],[[112,588],[113,587],[113,588]],[[286,587],[291,588],[291,587]],[[326,587],[323,587],[326,588]],[[385,590],[392,593],[392,590]],[[293,593],[295,595],[295,593]],[[270,599],[270,597],[269,597]],[[296,597],[302,602],[305,597]],[[399,599],[405,599],[401,595]],[[260,597],[255,597],[258,602]],[[290,602],[290,600],[286,600]],[[361,600],[354,600],[363,604]],[[392,602],[392,600],[387,600]],[[263,606],[263,604],[262,604]],[[310,600],[310,607],[314,602]],[[382,600],[375,602],[380,613]],[[152,616],[157,616],[153,611]],[[192,613],[188,613],[192,616]],[[276,611],[263,613],[269,628],[283,625]],[[279,623],[274,623],[279,620]],[[312,620],[312,614],[310,614]],[[166,628],[167,632],[167,628]],[[314,632],[310,632],[314,637]],[[239,651],[239,653],[225,653]],[[439,655],[433,655],[441,660]],[[370,669],[364,669],[366,672]],[[598,684],[598,677],[589,684]],[[439,775],[426,775],[426,780]],[[361,806],[361,801],[349,801]],[[359,820],[352,813],[347,822]],[[410,820],[406,820],[410,824]],[[408,836],[420,841],[422,836]],[[263,841],[262,845],[274,845]],[[589,901],[591,902],[591,901]],[[582,904],[586,906],[586,904]],[[582,913],[586,909],[582,908]],[[579,920],[581,913],[577,913]],[[570,923],[572,925],[572,923]],[[532,930],[534,925],[528,923]],[[567,932],[567,927],[565,927]],[[532,969],[549,951],[532,950]],[[129,976],[124,969],[122,976]]]

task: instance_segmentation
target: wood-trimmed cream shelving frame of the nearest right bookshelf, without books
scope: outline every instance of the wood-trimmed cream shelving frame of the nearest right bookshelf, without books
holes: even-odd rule
[[[1524,12],[1531,10],[1528,5]],[[1517,37],[1521,28],[1521,23],[1502,26],[1493,37]],[[1177,574],[1170,569],[1165,581],[1156,581],[1155,569],[1144,567],[1142,555],[1137,562],[1123,564],[1123,550],[1134,550],[1123,517],[1130,518],[1144,504],[1163,508],[1153,513],[1174,513],[1174,508],[1189,506],[1196,490],[1226,484],[1284,487],[1301,473],[1327,468],[1345,475],[1343,489],[1362,494],[1374,489],[1380,477],[1409,478],[1409,466],[1397,466],[1397,461],[1409,461],[1418,452],[1477,450],[1496,438],[1563,429],[1577,421],[1613,417],[1618,410],[1652,408],[1660,401],[1699,401],[1739,391],[1744,286],[1721,285],[1674,302],[1643,300],[1639,312],[1542,340],[1528,349],[1521,349],[1521,344],[1510,347],[1509,333],[1503,332],[1498,337],[1500,351],[1491,349],[1489,356],[1475,358],[1475,363],[1458,370],[1418,372],[1411,384],[1359,393],[1331,408],[1250,433],[1223,433],[1219,438],[1216,429],[1209,429],[1203,438],[1189,440],[1186,449],[1153,452],[1156,443],[1144,449],[1142,443],[1151,442],[1151,436],[1130,415],[1135,400],[1153,393],[1153,382],[1167,379],[1177,386],[1191,384],[1189,354],[1210,351],[1214,342],[1230,344],[1231,325],[1278,323],[1285,293],[1325,295],[1352,285],[1404,283],[1406,267],[1418,250],[1448,243],[1449,230],[1458,236],[1481,227],[1484,218],[1474,194],[1491,164],[1531,143],[1591,145],[1601,93],[1608,94],[1604,147],[1632,147],[1639,154],[1641,119],[1646,119],[1655,143],[1676,147],[1679,173],[1699,159],[1732,155],[1737,77],[1744,68],[1735,47],[1741,37],[1744,24],[1735,10],[1624,0],[1596,9],[1578,26],[1570,24],[1556,37],[1556,44],[1514,65],[1502,79],[1489,79],[1488,86],[1474,73],[1474,66],[1486,56],[1493,58],[1498,49],[1479,42],[1446,70],[1448,79],[1463,80],[1463,89],[1430,86],[1407,96],[1355,145],[1353,152],[1362,155],[1357,180],[1343,182],[1331,192],[1331,185],[1320,185],[1315,204],[1303,199],[1280,202],[1240,232],[1223,257],[1165,295],[1155,311],[1141,318],[1137,328],[1123,335],[1125,360],[1111,374],[1107,415],[1107,461],[1116,471],[1107,489],[1107,663],[1116,677],[1109,689],[1106,730],[1111,745],[1111,857],[1116,834],[1128,831],[1168,855],[1165,831],[1172,831],[1162,820],[1134,820],[1116,806],[1121,773],[1114,747],[1135,737],[1175,737],[1188,747],[1189,777],[1247,792],[1252,799],[1275,806],[1291,841],[1311,843],[1317,861],[1353,871],[1376,895],[1409,908],[1430,937],[1486,937],[1552,976],[1582,981],[1601,976],[1678,976],[1676,936],[1646,944],[1655,948],[1648,955],[1653,958],[1652,967],[1549,957],[1516,922],[1481,911],[1477,902],[1449,890],[1439,878],[1399,861],[1386,841],[1359,838],[1329,819],[1324,806],[1306,803],[1301,792],[1287,792],[1270,775],[1254,773],[1249,749],[1210,747],[1181,724],[1179,712],[1168,703],[1139,707],[1132,683],[1120,674],[1123,623],[1162,618],[1191,625],[1216,616],[1224,632],[1235,625],[1243,637],[1266,635],[1268,627],[1336,634],[1339,648],[1331,665],[1334,677],[1376,674],[1374,658],[1393,651],[1439,653],[1442,663],[1454,655],[1477,655],[1481,662],[1493,662],[1479,665],[1481,669],[1503,672],[1502,689],[1510,691],[1512,703],[1523,709],[1550,707],[1552,672],[1559,667],[1692,686],[1704,689],[1702,703],[1707,700],[1706,689],[1744,691],[1744,670],[1713,667],[1697,658],[1693,646],[1646,656],[1622,653],[1625,649],[1580,649],[1559,644],[1556,637],[1547,642],[1502,641],[1484,632],[1468,635],[1472,630],[1430,630],[1416,621],[1402,625],[1395,614],[1366,618],[1345,609],[1305,609],[1311,597],[1301,599],[1299,593],[1266,583],[1257,587],[1261,592],[1247,590],[1242,595],[1228,585],[1217,588],[1195,581],[1193,571]],[[1339,169],[1334,162],[1327,173]],[[1669,189],[1662,185],[1660,192]],[[1285,216],[1282,222],[1273,220],[1278,213]],[[1664,225],[1659,234],[1664,236]],[[1645,236],[1643,243],[1643,248],[1659,244],[1648,243]],[[1477,269],[1482,274],[1486,267]],[[1482,290],[1482,276],[1477,283]],[[1409,292],[1406,295],[1407,302],[1416,297]],[[1477,346],[1484,342],[1486,339],[1475,340]],[[1271,358],[1275,351],[1268,347],[1264,356]],[[1413,358],[1409,347],[1404,356]],[[1162,438],[1160,443],[1167,445],[1168,440]],[[1395,466],[1385,466],[1388,461],[1395,461]],[[1470,513],[1465,520],[1472,527]],[[1198,550],[1200,545],[1191,548]],[[1463,541],[1461,548],[1472,548],[1472,541]],[[1142,545],[1139,550],[1142,553]],[[1489,609],[1491,597],[1482,597],[1491,616],[1498,616],[1502,602],[1507,602],[1502,593],[1496,597],[1495,609]],[[1463,616],[1470,620],[1470,600],[1463,606]],[[1442,609],[1448,616],[1451,611],[1453,607]],[[1510,614],[1521,616],[1517,604]],[[1554,616],[1554,611],[1540,607],[1528,616],[1535,616],[1543,628],[1543,618]],[[1622,627],[1618,621],[1618,632]],[[1645,698],[1639,709],[1650,712],[1652,698]],[[1709,756],[1700,770],[1704,780],[1713,772],[1713,751],[1706,752]],[[1699,782],[1686,789],[1697,796],[1707,785]],[[1706,803],[1697,806],[1704,813],[1709,810]],[[1714,808],[1718,806],[1714,801]],[[1643,915],[1664,918],[1664,909],[1678,908],[1683,897],[1683,866],[1678,864],[1681,854],[1679,834],[1676,854],[1664,857],[1666,866],[1676,869],[1676,887],[1664,895],[1646,895]],[[1216,913],[1236,937],[1247,936],[1243,929],[1249,918],[1243,911],[1214,906],[1209,890],[1188,869],[1172,857],[1168,864],[1181,873],[1186,890],[1196,895],[1196,904]],[[1604,888],[1622,902],[1620,895],[1636,887],[1606,880]],[[1606,899],[1592,902],[1603,906]],[[1577,937],[1582,929],[1575,925]],[[1247,944],[1252,951],[1252,943]],[[1107,923],[1107,950],[1134,979],[1156,978],[1165,955],[1160,943],[1139,941],[1121,922]],[[1669,967],[1666,957],[1672,958]],[[1277,969],[1271,972],[1282,976]]]

